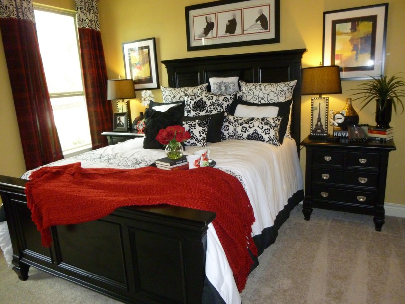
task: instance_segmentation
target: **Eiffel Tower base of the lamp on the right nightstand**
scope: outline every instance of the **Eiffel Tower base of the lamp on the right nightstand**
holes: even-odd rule
[[[312,138],[327,137],[329,98],[313,97],[311,99],[311,132]]]

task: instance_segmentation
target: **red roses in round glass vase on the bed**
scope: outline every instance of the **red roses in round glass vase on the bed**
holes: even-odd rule
[[[156,136],[156,140],[166,146],[167,157],[171,159],[178,159],[183,155],[181,143],[190,138],[189,131],[182,126],[169,126],[161,129]]]

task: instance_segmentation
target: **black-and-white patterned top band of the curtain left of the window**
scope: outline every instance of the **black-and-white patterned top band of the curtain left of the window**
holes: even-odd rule
[[[35,22],[32,0],[0,0],[0,18],[17,18]]]

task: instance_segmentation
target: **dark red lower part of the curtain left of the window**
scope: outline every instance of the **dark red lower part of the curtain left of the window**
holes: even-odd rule
[[[0,28],[26,169],[63,159],[35,25],[0,18]]]

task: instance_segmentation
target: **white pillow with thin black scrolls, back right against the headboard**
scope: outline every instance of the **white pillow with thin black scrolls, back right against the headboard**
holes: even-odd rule
[[[266,104],[292,99],[297,80],[284,83],[246,83],[240,80],[239,84],[244,101]]]

